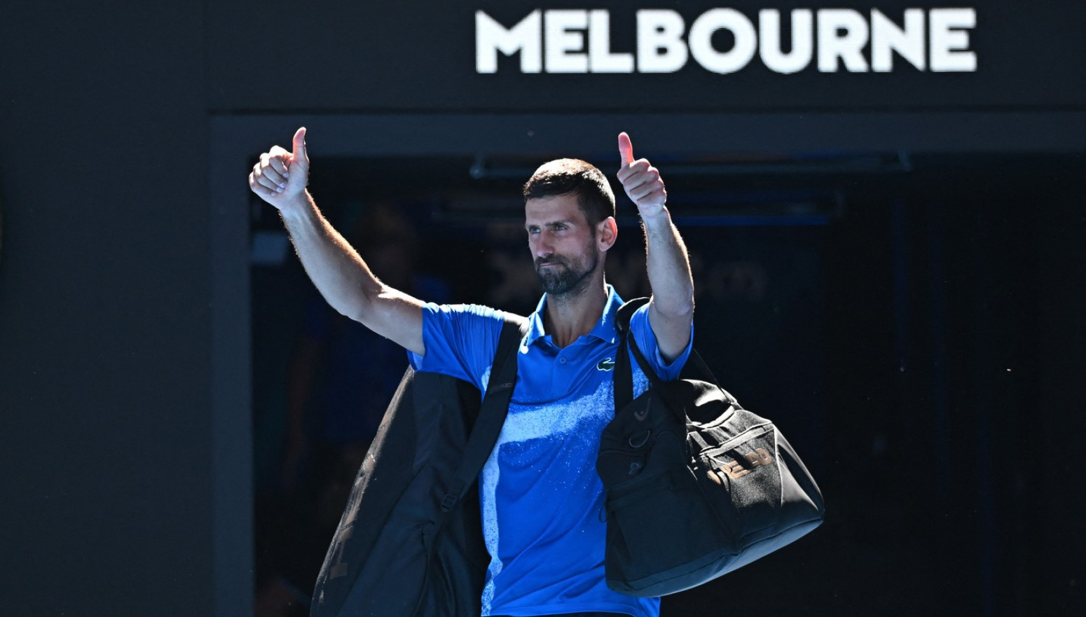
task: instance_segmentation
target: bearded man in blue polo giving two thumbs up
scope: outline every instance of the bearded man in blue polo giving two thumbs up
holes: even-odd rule
[[[408,352],[417,370],[465,379],[485,391],[503,317],[478,305],[424,303],[378,280],[321,216],[305,190],[305,129],[293,151],[273,148],[250,174],[253,192],[277,207],[306,273],[340,313]],[[690,353],[694,292],[685,247],[665,206],[659,172],[634,161],[619,135],[618,180],[645,231],[653,298],[630,320],[637,347],[662,379]],[[615,318],[622,301],[604,279],[615,244],[615,196],[596,167],[574,159],[543,164],[523,188],[525,230],[543,287],[517,354],[517,382],[501,436],[479,478],[491,562],[483,616],[656,617],[659,599],[618,594],[604,582],[599,435],[615,415]],[[634,395],[648,387],[636,363]]]

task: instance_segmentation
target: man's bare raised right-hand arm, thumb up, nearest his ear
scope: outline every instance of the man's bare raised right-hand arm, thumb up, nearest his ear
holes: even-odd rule
[[[645,230],[646,268],[653,288],[648,324],[660,354],[670,362],[690,343],[694,319],[694,279],[686,245],[671,222],[659,171],[644,159],[633,160],[633,146],[626,133],[618,136],[618,149],[622,158],[618,179],[637,206]]]

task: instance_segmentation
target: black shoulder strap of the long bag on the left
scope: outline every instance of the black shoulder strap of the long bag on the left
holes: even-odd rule
[[[490,457],[497,436],[502,432],[509,401],[513,399],[513,386],[517,382],[517,354],[520,340],[528,331],[528,319],[519,315],[505,314],[505,324],[497,338],[497,351],[490,369],[490,380],[487,383],[487,394],[479,407],[479,416],[471,428],[471,436],[464,446],[464,457],[456,468],[456,477],[444,499],[441,500],[441,511],[453,509],[456,502],[464,496],[468,487],[475,482],[487,458]]]

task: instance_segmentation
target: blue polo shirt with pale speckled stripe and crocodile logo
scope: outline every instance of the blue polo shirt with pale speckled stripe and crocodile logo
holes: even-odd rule
[[[604,582],[607,527],[595,464],[599,435],[615,417],[615,318],[621,304],[608,286],[599,322],[565,349],[543,329],[546,295],[529,317],[509,414],[479,478],[483,538],[491,556],[484,616],[659,614],[659,599],[621,595]],[[458,377],[485,391],[502,324],[502,313],[485,306],[427,304],[426,355],[408,353],[412,366]],[[661,378],[679,376],[690,345],[674,362],[665,363],[648,325],[647,305],[634,313],[630,331]],[[636,395],[648,380],[631,363]]]

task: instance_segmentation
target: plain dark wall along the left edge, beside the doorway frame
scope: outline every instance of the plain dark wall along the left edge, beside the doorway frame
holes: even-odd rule
[[[200,3],[5,3],[5,615],[212,615]]]

